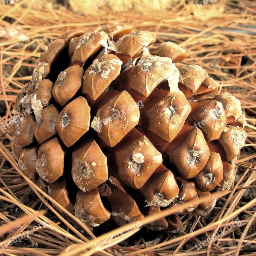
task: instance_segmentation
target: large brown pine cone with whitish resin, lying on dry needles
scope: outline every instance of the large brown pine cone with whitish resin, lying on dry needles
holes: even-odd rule
[[[112,24],[74,29],[41,54],[17,96],[12,151],[20,170],[90,227],[118,225],[232,186],[246,139],[229,93],[187,53]],[[216,200],[177,214],[211,211]],[[148,224],[182,230],[178,215]]]

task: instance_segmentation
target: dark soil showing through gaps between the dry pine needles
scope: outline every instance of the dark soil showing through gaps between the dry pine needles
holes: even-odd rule
[[[55,5],[61,4],[61,5],[68,5],[67,1],[55,1],[54,3]],[[7,22],[10,20],[6,20]],[[11,22],[11,21],[10,21]],[[250,65],[250,60],[244,58],[244,65]],[[36,62],[35,62],[36,64]],[[8,70],[8,67],[5,67],[6,70]],[[10,69],[12,69],[12,66],[10,67]],[[230,73],[230,70],[224,70],[227,73]],[[32,68],[28,67],[28,68],[22,68],[22,70],[20,70],[19,73],[17,73],[17,76],[30,76],[32,74]],[[218,77],[217,77],[218,79]],[[234,89],[234,88],[233,88]],[[4,116],[6,113],[6,104],[3,101],[0,101],[0,116]],[[251,113],[250,113],[251,115]],[[256,116],[251,116],[252,118],[255,118]],[[9,141],[5,140],[3,143],[8,144]],[[255,154],[255,151],[253,150],[253,148],[243,148],[241,150],[241,154],[242,155],[251,155],[251,154]],[[255,162],[255,160],[251,160],[251,162]],[[10,166],[9,163],[6,162],[5,166],[3,166],[3,169],[9,169],[12,166]],[[244,172],[244,168],[239,167],[237,174],[236,174],[236,180],[238,180],[238,178],[243,174]],[[18,183],[23,183],[24,180],[21,177],[15,177],[12,178],[12,184],[14,183],[14,179],[15,182]],[[3,177],[4,182],[8,185],[8,183],[10,182],[11,178],[6,178]],[[2,185],[2,184],[1,184]],[[256,183],[252,183],[250,184],[251,186],[256,185]],[[3,186],[1,186],[3,187]],[[12,189],[13,192],[18,192],[20,191],[19,189]],[[21,195],[18,196],[18,198],[20,199],[20,201],[26,205],[29,206],[35,210],[38,209],[47,209],[47,218],[49,218],[50,220],[54,221],[54,222],[58,222],[59,219],[57,218],[57,216],[55,214],[53,214],[51,211],[49,211],[49,209],[44,205],[41,204],[41,200],[37,197],[37,195],[35,195],[35,193],[32,191],[32,189],[28,190],[25,193],[22,193]],[[227,198],[227,197],[226,197]],[[244,192],[244,195],[242,196],[241,200],[238,203],[238,206],[241,207],[244,204],[247,204],[249,201],[251,201],[253,198],[256,198],[256,189],[246,189],[246,191]],[[214,216],[216,215],[217,212],[220,211],[220,209],[224,206],[224,201],[222,200],[218,200],[217,204],[215,206],[215,209],[212,210],[212,212],[204,217],[201,217],[201,223],[206,226],[207,224],[209,224],[212,219],[214,218]],[[250,209],[251,212],[255,212],[256,211],[256,207],[253,207],[252,209]],[[8,216],[14,216],[15,218],[19,218],[21,216],[24,215],[24,212],[17,208],[15,204],[9,204],[6,203],[5,201],[0,201],[0,212],[8,215]],[[190,229],[192,228],[192,225],[195,222],[195,217],[194,216],[187,216],[186,218],[190,218],[188,221],[188,224],[186,225],[186,229],[184,230],[185,233],[189,233]],[[244,220],[248,218],[248,215],[245,213],[241,213],[238,216],[239,220]],[[185,218],[184,218],[185,220]],[[61,226],[64,227],[64,224],[60,224]],[[96,235],[99,235],[101,233],[104,233],[107,229],[109,228],[108,224],[102,225],[101,228],[96,229]],[[226,236],[225,238],[235,238],[235,239],[239,239],[241,237],[242,232],[244,231],[245,226],[242,226],[240,228],[237,228],[234,232],[234,237],[232,237],[232,234],[230,234],[230,236]],[[251,225],[251,227],[249,228],[248,232],[247,232],[247,236],[251,235],[251,234],[255,234],[256,233],[256,222],[253,222],[253,224]],[[180,236],[180,233],[177,234],[170,234],[170,233],[165,233],[163,232],[155,232],[155,231],[148,231],[145,228],[142,228],[140,230],[139,233],[137,233],[136,235],[132,236],[131,239],[123,241],[121,244],[128,246],[128,245],[134,245],[137,243],[137,241],[139,239],[143,239],[145,242],[147,241],[151,241],[151,244],[154,244],[154,242],[157,242],[159,240],[164,241],[165,239],[167,239],[169,237],[170,238],[175,238],[177,236]],[[7,234],[4,235],[3,237],[0,238],[0,241],[4,241],[7,238]],[[56,238],[58,239],[58,238]],[[199,236],[198,239],[200,239],[201,241],[203,241],[204,239],[207,239],[206,236]],[[256,236],[252,236],[250,238],[250,240],[256,239]],[[225,242],[221,242],[221,244],[223,244]],[[227,242],[228,243],[228,242]],[[221,245],[220,244],[220,245]],[[29,237],[26,237],[26,239],[22,239],[21,242],[17,242],[15,244],[12,244],[12,246],[15,247],[30,247],[30,248],[48,248],[46,246],[43,246],[42,244],[38,244],[37,242],[35,242],[32,239],[29,239]],[[189,243],[185,243],[183,245],[183,247],[181,248],[181,250],[186,250],[189,249],[190,247],[194,246],[194,244],[192,242]],[[49,247],[50,249],[50,247]],[[241,251],[241,255],[243,254],[248,254],[248,253],[253,253],[256,252],[256,246],[251,244],[248,246],[245,246],[243,248],[243,250]]]

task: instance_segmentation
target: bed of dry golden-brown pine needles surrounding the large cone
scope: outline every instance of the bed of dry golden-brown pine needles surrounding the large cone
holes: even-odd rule
[[[102,6],[103,11],[93,15],[72,12],[69,5],[56,8],[47,1],[0,4],[0,255],[256,255],[256,2],[219,0],[200,8],[193,2],[182,0],[153,12],[150,6],[122,13]],[[219,92],[229,91],[240,99],[247,119],[248,137],[232,189],[214,195],[219,203],[211,218],[183,218],[185,229],[178,234],[148,235],[131,223],[96,237],[65,209],[70,218],[63,218],[53,207],[57,203],[20,172],[10,152],[11,137],[4,124],[12,119],[15,97],[32,78],[41,52],[68,29],[91,31],[116,21],[148,30],[159,41],[180,44],[189,57],[178,68],[201,65],[220,83]],[[25,195],[34,198],[33,203],[24,202]],[[141,224],[188,204],[167,208]],[[18,237],[21,243],[15,243]],[[195,243],[210,237],[215,239],[197,250]],[[5,246],[8,241],[13,242]]]

